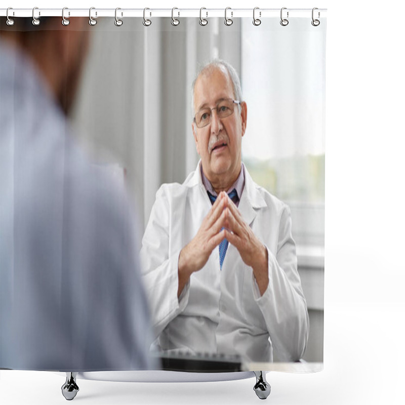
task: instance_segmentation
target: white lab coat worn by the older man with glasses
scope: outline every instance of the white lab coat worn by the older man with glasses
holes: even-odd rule
[[[255,184],[247,170],[238,209],[267,247],[267,290],[260,296],[252,268],[229,244],[222,270],[216,248],[178,299],[180,251],[212,207],[199,164],[183,184],[159,188],[142,240],[142,274],[158,346],[239,354],[248,361],[298,360],[308,338],[308,313],[290,209]]]

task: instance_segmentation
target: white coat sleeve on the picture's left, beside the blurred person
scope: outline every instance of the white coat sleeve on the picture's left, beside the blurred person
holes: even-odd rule
[[[169,255],[171,207],[166,191],[162,186],[156,192],[141,249],[142,278],[156,336],[184,310],[189,297],[189,282],[177,297],[181,249]]]

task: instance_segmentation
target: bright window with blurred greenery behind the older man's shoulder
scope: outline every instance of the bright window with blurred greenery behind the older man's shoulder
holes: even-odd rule
[[[314,52],[323,52],[316,42],[324,38],[299,24],[258,28],[242,24],[243,161],[254,181],[290,206],[297,251],[323,257],[325,64]]]

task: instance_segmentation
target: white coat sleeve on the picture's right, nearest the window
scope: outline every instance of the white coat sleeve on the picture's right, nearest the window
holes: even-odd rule
[[[305,350],[309,333],[307,305],[297,271],[291,214],[286,206],[281,214],[276,256],[268,252],[269,284],[260,296],[253,276],[256,302],[263,313],[274,361],[297,361]]]

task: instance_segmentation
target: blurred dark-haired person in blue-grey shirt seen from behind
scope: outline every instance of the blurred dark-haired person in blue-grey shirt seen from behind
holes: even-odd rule
[[[156,366],[124,188],[88,163],[66,119],[87,26],[2,20],[1,368]]]

